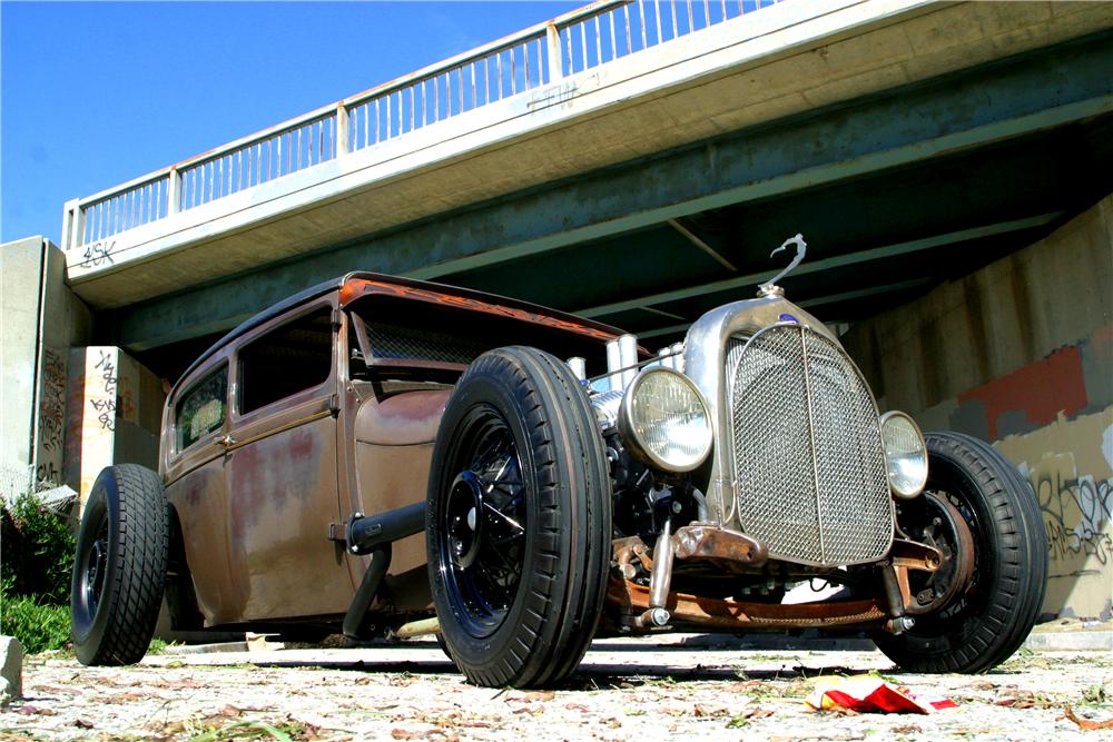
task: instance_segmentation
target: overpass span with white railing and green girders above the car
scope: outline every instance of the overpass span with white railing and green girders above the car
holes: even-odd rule
[[[1109,192],[1111,30],[1107,3],[607,0],[71,201],[68,280],[167,375],[349,269],[663,343],[797,231],[789,290],[850,323]]]

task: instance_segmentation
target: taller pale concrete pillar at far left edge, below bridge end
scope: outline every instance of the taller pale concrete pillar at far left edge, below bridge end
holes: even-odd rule
[[[69,348],[92,315],[66,285],[66,258],[42,237],[0,246],[0,465],[62,482]]]

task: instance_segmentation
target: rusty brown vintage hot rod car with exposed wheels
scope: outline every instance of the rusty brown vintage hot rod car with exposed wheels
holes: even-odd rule
[[[171,389],[159,472],[97,479],[78,659],[137,662],[165,595],[179,630],[437,633],[491,686],[669,630],[865,631],[917,672],[1003,662],[1046,581],[1031,489],[979,441],[878,414],[776,285],[790,244],[757,298],[658,354],[366,273],[245,321]],[[809,582],[834,594],[782,602]]]

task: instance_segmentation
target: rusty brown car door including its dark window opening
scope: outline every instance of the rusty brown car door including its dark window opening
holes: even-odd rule
[[[334,304],[239,344],[226,441],[229,574],[242,621],[343,613],[354,593],[338,518]]]

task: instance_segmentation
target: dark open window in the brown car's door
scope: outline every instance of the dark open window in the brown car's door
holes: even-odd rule
[[[333,367],[333,310],[325,306],[239,349],[239,414],[323,384]]]

